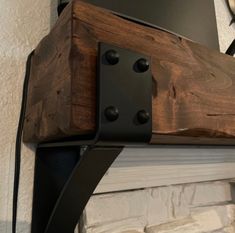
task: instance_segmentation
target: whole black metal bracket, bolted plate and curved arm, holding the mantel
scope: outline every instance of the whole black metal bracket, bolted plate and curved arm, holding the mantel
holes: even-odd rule
[[[36,152],[32,233],[72,233],[98,183],[128,144],[152,135],[150,57],[100,43],[97,133]]]

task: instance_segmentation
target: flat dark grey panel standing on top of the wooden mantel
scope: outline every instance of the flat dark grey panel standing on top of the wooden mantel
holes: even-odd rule
[[[219,49],[214,0],[87,0]]]

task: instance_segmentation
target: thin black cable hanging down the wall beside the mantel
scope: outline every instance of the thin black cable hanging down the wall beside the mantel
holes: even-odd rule
[[[19,181],[20,181],[20,163],[21,163],[21,142],[22,142],[24,119],[26,113],[30,65],[33,53],[34,51],[30,53],[26,63],[26,72],[23,85],[23,96],[21,100],[20,118],[18,122],[16,143],[15,143],[15,173],[14,173],[14,191],[13,191],[13,207],[12,207],[12,233],[16,233],[17,206],[18,206],[18,193],[19,193]]]

